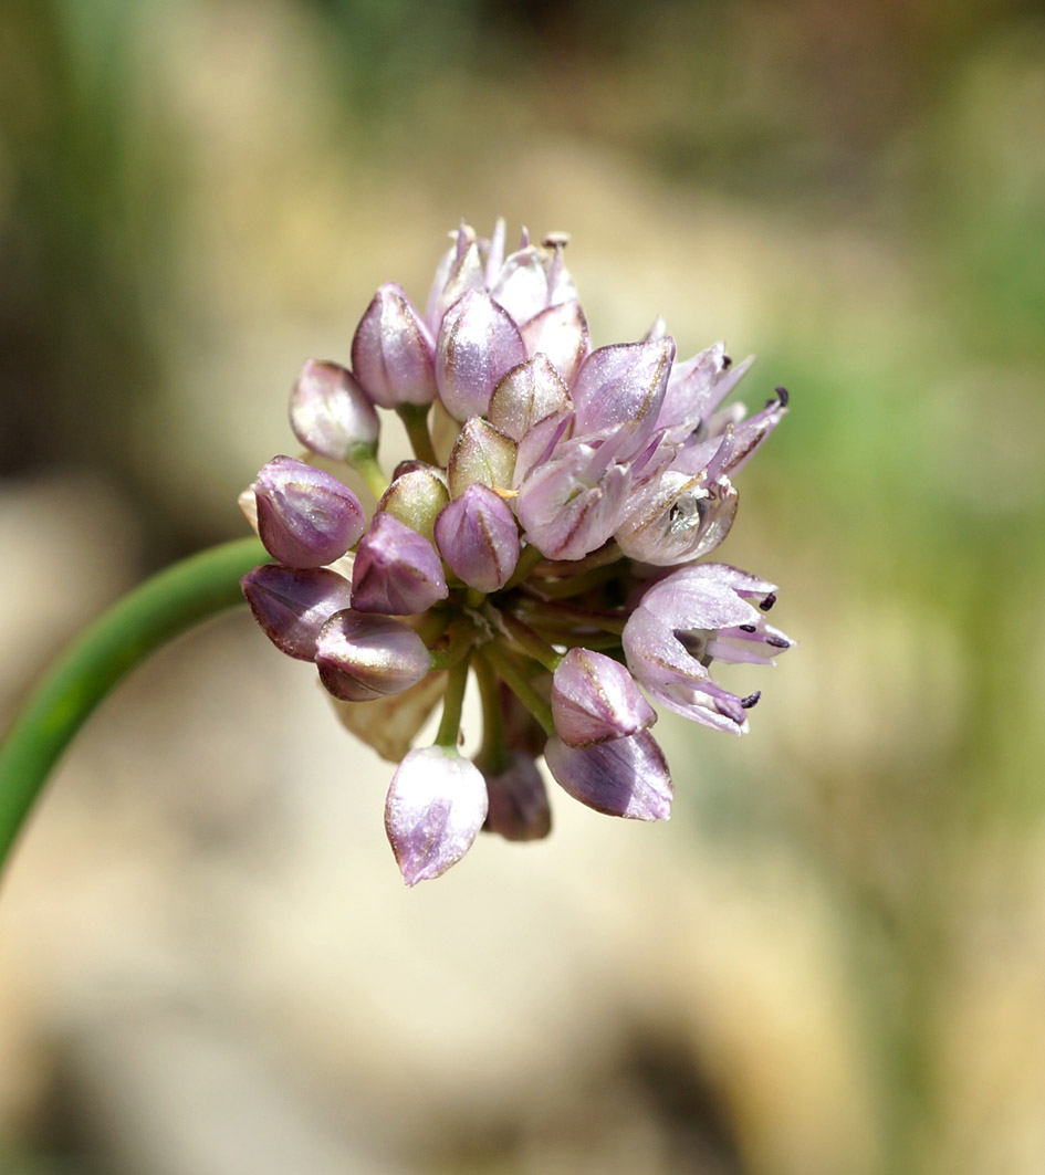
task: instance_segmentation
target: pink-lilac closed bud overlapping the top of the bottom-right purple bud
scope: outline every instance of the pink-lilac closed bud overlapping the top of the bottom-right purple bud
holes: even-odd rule
[[[551,679],[551,716],[567,746],[587,747],[637,734],[656,712],[612,657],[571,649]]]

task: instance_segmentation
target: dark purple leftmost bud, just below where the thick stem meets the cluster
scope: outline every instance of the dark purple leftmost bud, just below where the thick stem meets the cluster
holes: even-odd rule
[[[348,580],[324,568],[295,571],[272,563],[240,580],[254,619],[272,643],[297,660],[313,660],[327,620],[348,607]]]

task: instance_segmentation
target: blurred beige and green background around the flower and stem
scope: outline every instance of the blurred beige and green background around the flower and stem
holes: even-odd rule
[[[13,1175],[1045,1170],[1045,15],[1018,0],[6,0],[0,711],[244,532],[308,356],[444,234],[572,233],[792,411],[722,551],[801,647],[675,818],[406,892],[390,766],[246,613],[155,657],[0,900]],[[728,677],[723,674],[724,679]],[[562,799],[565,799],[562,797]],[[560,797],[552,797],[558,801]]]

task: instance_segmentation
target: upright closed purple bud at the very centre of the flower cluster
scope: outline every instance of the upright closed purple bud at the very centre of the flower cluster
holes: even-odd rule
[[[515,517],[480,482],[443,508],[435,521],[435,540],[447,566],[476,591],[503,588],[518,562]]]

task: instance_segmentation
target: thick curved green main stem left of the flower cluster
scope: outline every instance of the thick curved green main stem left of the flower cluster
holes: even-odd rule
[[[160,645],[242,604],[240,577],[268,558],[256,538],[243,538],[182,559],[113,604],[58,658],[0,744],[0,866],[92,710]]]

